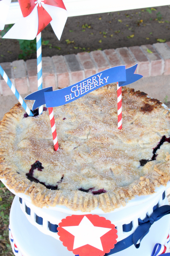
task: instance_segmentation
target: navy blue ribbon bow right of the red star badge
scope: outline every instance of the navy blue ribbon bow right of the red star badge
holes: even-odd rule
[[[105,256],[112,255],[116,252],[123,251],[133,244],[135,245],[136,248],[139,248],[140,243],[137,244],[138,240],[140,240],[140,242],[141,242],[142,239],[144,238],[144,236],[146,236],[148,234],[149,229],[152,226],[152,224],[155,221],[160,220],[163,216],[165,216],[167,214],[170,214],[170,205],[163,205],[163,206],[160,206],[159,208],[157,208],[152,213],[151,217],[147,216],[144,220],[138,219],[139,226],[137,227],[135,232],[133,234],[131,234],[130,236],[126,237],[125,239],[117,242],[117,244],[115,244],[115,247],[113,249],[111,249],[110,252],[105,253]],[[161,255],[170,256],[170,253],[165,253],[165,254],[161,254]],[[75,256],[79,256],[79,255],[75,255]]]

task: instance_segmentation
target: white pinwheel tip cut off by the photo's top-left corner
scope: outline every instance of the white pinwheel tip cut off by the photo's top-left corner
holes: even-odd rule
[[[4,29],[11,0],[0,0],[0,31]]]

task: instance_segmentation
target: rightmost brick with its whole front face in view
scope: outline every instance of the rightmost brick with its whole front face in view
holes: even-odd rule
[[[160,58],[158,52],[151,44],[142,45],[141,48],[151,62],[151,76],[161,76],[163,73],[164,61]],[[150,50],[152,53],[149,53],[147,50]]]

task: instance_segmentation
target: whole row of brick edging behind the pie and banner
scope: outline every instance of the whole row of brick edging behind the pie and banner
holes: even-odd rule
[[[138,63],[137,73],[144,77],[170,75],[170,42],[123,47],[104,51],[81,52],[77,55],[42,58],[43,88],[53,90],[74,84],[107,68]],[[37,91],[37,60],[0,63],[20,94]],[[2,76],[0,93],[12,95]]]

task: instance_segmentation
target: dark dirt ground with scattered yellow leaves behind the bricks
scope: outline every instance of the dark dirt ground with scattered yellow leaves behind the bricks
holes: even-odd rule
[[[49,41],[42,56],[170,41],[169,29],[170,6],[69,17],[60,41],[50,24],[42,31],[42,40]],[[17,60],[19,53],[17,40],[0,38],[0,62]]]

